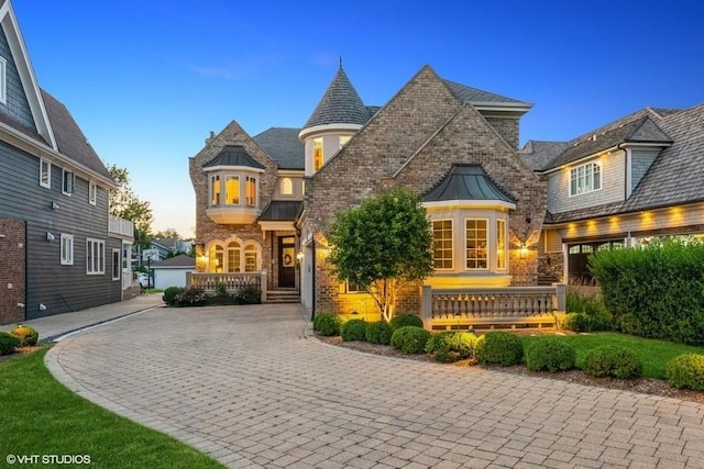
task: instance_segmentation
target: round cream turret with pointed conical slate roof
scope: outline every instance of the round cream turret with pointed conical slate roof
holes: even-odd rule
[[[340,60],[332,82],[298,134],[298,139],[306,147],[306,176],[318,171],[366,124],[372,114],[350,82]]]

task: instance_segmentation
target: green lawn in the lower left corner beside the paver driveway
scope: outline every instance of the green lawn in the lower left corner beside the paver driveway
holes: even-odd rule
[[[69,391],[44,366],[46,350],[0,362],[0,458],[88,455],[91,468],[222,468],[195,448]],[[47,467],[41,461],[21,466]]]

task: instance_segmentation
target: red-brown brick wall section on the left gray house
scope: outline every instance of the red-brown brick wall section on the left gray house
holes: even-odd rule
[[[0,217],[0,324],[24,321],[26,225]]]

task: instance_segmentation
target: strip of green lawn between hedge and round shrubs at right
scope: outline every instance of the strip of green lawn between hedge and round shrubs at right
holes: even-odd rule
[[[570,344],[576,350],[576,367],[584,367],[586,354],[602,345],[620,345],[635,351],[642,360],[642,376],[646,378],[667,379],[666,369],[668,362],[683,354],[704,355],[704,347],[694,347],[674,344],[666,340],[642,338],[632,335],[613,332],[600,332],[591,334],[578,334],[565,336],[551,336],[558,340]],[[544,336],[522,336],[524,348],[535,340],[544,339]]]

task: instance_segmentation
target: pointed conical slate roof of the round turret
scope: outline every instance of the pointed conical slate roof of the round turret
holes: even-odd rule
[[[370,118],[369,109],[340,67],[304,129],[326,124],[364,125]]]

